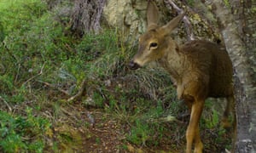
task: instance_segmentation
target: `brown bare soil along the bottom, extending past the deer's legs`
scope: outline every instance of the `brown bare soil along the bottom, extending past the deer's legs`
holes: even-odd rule
[[[103,109],[85,108],[84,105],[75,103],[61,108],[61,113],[53,125],[53,136],[49,139],[49,150],[56,148],[55,152],[183,152],[185,149],[185,138],[181,135],[177,137],[177,132],[170,131],[168,136],[164,136],[157,146],[147,146],[142,144],[137,146],[125,139],[129,133],[129,127],[122,124],[111,114]],[[181,125],[183,126],[183,125]],[[178,129],[177,129],[178,130]],[[182,139],[177,140],[168,139]],[[176,135],[175,135],[176,134]],[[201,130],[202,139],[205,144],[204,152],[225,152],[224,147],[219,142],[212,142],[212,138],[217,136],[209,129]],[[218,137],[218,136],[217,136]],[[223,138],[222,138],[223,139]],[[230,135],[226,135],[230,139]],[[218,146],[220,145],[220,146]]]

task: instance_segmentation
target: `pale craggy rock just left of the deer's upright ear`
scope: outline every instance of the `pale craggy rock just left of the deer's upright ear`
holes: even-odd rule
[[[108,0],[103,15],[110,26],[133,35],[146,29],[146,8],[147,1]]]

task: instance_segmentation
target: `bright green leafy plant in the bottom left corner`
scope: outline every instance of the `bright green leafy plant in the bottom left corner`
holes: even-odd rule
[[[11,116],[0,112],[0,146],[5,152],[20,152],[25,150],[43,152],[44,137],[50,130],[50,123],[44,118],[32,115],[32,109],[27,108],[27,117]],[[26,141],[36,137],[32,142]]]

